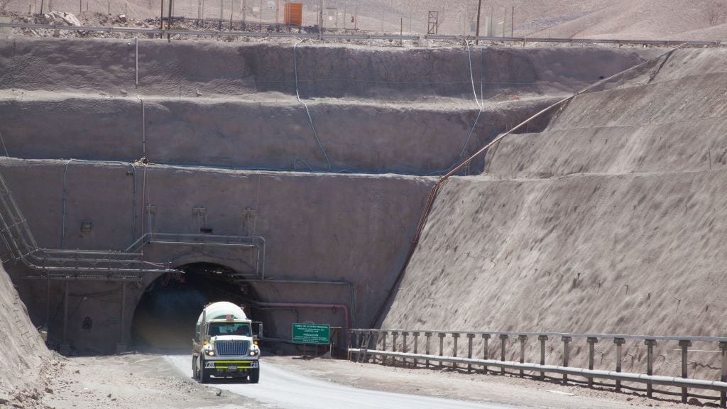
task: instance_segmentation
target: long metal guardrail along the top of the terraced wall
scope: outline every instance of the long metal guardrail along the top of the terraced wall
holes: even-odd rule
[[[541,37],[488,37],[488,36],[447,36],[441,34],[415,35],[415,34],[346,34],[346,33],[277,33],[277,32],[254,32],[254,31],[195,31],[195,30],[167,30],[161,28],[136,28],[117,26],[72,26],[72,25],[50,25],[50,24],[27,24],[27,23],[0,23],[0,27],[28,28],[65,31],[96,31],[105,33],[145,33],[159,36],[233,36],[233,37],[278,37],[289,39],[346,39],[346,40],[441,40],[441,41],[462,41],[470,39],[477,41],[493,41],[506,43],[565,43],[565,44],[637,44],[655,46],[677,46],[680,44],[691,44],[694,46],[723,47],[727,41],[702,41],[702,40],[645,40],[645,39],[563,39],[563,38],[541,38]]]

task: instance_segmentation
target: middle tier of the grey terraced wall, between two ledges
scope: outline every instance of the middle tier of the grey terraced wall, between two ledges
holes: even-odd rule
[[[0,132],[10,154],[20,158],[130,162],[144,156],[145,137],[146,156],[157,163],[326,170],[305,109],[286,99],[146,100],[145,130],[135,97],[0,100]],[[487,106],[465,154],[553,102],[538,98]],[[449,169],[460,158],[477,106],[457,105],[316,102],[309,107],[334,172],[427,174]],[[34,113],[42,113],[42,119],[33,120]]]

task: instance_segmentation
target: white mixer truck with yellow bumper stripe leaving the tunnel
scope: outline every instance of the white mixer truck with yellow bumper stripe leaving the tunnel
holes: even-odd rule
[[[260,381],[260,347],[252,336],[252,321],[227,301],[204,307],[193,339],[192,373],[206,384],[209,376]]]

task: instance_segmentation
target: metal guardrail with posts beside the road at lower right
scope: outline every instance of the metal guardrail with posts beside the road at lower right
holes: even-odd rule
[[[391,335],[391,350],[387,351],[387,336]],[[409,352],[410,343],[407,342],[407,338],[411,335],[413,337],[413,351]],[[425,353],[419,353],[419,336],[425,336]],[[436,335],[439,341],[438,354],[433,354],[431,349],[431,338]],[[444,354],[444,339],[447,336],[452,338],[452,354]],[[462,335],[467,338],[467,357],[457,357],[458,352],[458,340]],[[397,340],[401,336],[401,343]],[[517,338],[520,342],[520,362],[507,361],[505,359],[507,354],[507,341],[510,337]],[[540,346],[540,362],[531,363],[526,362],[526,344],[529,338],[536,338],[539,341]],[[474,338],[482,338],[483,351],[482,358],[473,358],[473,340]],[[563,342],[563,365],[546,365],[545,364],[545,343],[550,338],[560,338]],[[575,368],[569,366],[571,342],[574,338],[585,338],[588,344],[588,368]],[[595,344],[598,344],[599,340],[604,338],[610,338],[615,344],[616,348],[616,365],[615,370],[596,370],[594,369],[595,361]],[[500,359],[494,360],[489,357],[489,340],[493,341],[499,339],[500,347]],[[419,365],[419,362],[424,362],[426,367],[430,366],[430,362],[443,362],[451,363],[454,368],[457,368],[458,364],[467,365],[467,370],[472,370],[473,365],[483,367],[485,373],[488,372],[488,367],[499,368],[502,373],[505,373],[505,369],[514,369],[519,371],[520,376],[525,376],[524,371],[532,371],[539,373],[537,375],[529,375],[534,378],[545,380],[545,373],[558,373],[563,376],[563,383],[569,382],[568,376],[582,376],[586,378],[588,386],[595,384],[595,379],[608,379],[616,381],[615,389],[616,392],[620,392],[624,389],[634,389],[632,387],[623,386],[622,382],[633,382],[638,384],[646,384],[646,396],[653,397],[654,392],[661,394],[678,394],[681,397],[682,402],[688,402],[688,397],[702,397],[707,399],[717,399],[717,397],[696,395],[688,392],[689,388],[695,389],[708,389],[720,392],[719,400],[720,407],[727,408],[727,337],[712,337],[712,336],[671,336],[671,335],[625,335],[625,334],[604,334],[604,333],[534,333],[534,332],[513,332],[513,331],[439,331],[439,330],[375,330],[375,329],[353,329],[350,330],[351,344],[348,348],[349,359],[353,358],[353,354],[357,355],[357,360],[366,361],[367,356],[371,357],[383,357],[381,362],[386,364],[387,358],[392,358],[392,362],[396,358],[401,358],[403,362],[409,364],[413,363],[414,367]],[[373,343],[371,345],[371,341]],[[624,373],[622,372],[622,358],[623,350],[622,346],[626,343],[626,340],[638,340],[643,341],[646,345],[646,373]],[[654,375],[654,347],[661,341],[678,342],[680,347],[681,355],[681,373],[680,376],[658,376]],[[688,349],[692,346],[693,341],[700,342],[713,342],[717,343],[721,357],[721,368],[720,368],[720,380],[705,380],[705,379],[694,379],[688,378],[687,364],[688,364]],[[378,349],[379,345],[382,349]],[[373,349],[369,349],[373,346]],[[397,351],[397,347],[401,346],[401,350]],[[374,358],[375,361],[375,358]],[[571,381],[574,381],[571,379]],[[603,384],[601,384],[603,385]],[[680,393],[668,392],[668,391],[656,391],[654,385],[665,385],[665,386],[676,386],[681,389]],[[614,386],[614,385],[606,385]],[[643,390],[643,389],[637,389]]]

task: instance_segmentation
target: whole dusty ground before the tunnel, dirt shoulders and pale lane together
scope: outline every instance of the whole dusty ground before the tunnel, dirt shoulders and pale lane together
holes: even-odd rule
[[[446,370],[263,357],[260,384],[191,379],[186,354],[54,355],[21,400],[0,408],[678,408],[673,400]],[[467,399],[467,402],[463,401]],[[14,406],[15,405],[15,406]]]

